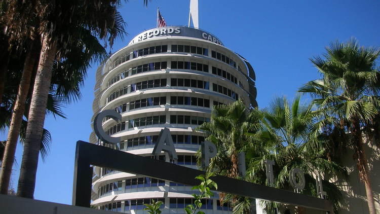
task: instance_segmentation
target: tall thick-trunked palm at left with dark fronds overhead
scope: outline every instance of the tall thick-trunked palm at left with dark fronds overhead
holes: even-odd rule
[[[54,5],[50,1],[4,2],[8,4],[7,12],[9,16],[3,16],[5,21],[3,19],[2,21],[6,25],[5,29],[10,29],[10,41],[12,39],[17,42],[22,41],[34,31],[40,34],[43,41],[39,67],[34,81],[28,118],[29,126],[25,136],[26,147],[24,149],[18,188],[20,196],[32,197],[39,155],[39,139],[41,139],[41,130],[45,119],[44,108],[47,102],[47,94],[49,93],[51,68],[54,60],[60,61],[64,59],[67,46],[81,40],[82,28],[87,29],[95,37],[102,39],[105,45],[112,46],[113,41],[125,33],[124,21],[119,12],[117,12],[120,5],[118,0],[94,0],[91,4],[86,1],[80,1],[75,2],[76,6],[67,4],[64,1],[55,2]],[[144,5],[147,5],[146,0]],[[88,51],[87,47],[83,48]],[[60,90],[60,88],[57,88],[57,90]],[[30,147],[29,144],[31,144]]]

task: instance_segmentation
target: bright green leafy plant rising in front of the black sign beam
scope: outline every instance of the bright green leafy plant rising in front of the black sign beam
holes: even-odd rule
[[[197,209],[199,209],[202,206],[201,199],[203,198],[210,198],[214,194],[211,192],[211,188],[214,188],[215,190],[218,189],[218,186],[215,182],[213,182],[211,179],[209,179],[213,173],[206,173],[201,174],[199,176],[196,176],[195,178],[201,181],[201,184],[198,186],[194,186],[192,189],[198,189],[200,194],[193,194],[193,197],[195,198],[194,205],[189,204],[187,205],[184,210],[186,211],[186,214],[195,214]],[[205,214],[203,211],[198,211],[197,214]]]

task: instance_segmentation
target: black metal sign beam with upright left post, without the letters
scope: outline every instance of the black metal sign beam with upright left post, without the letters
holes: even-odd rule
[[[191,186],[198,185],[199,182],[195,180],[195,177],[204,173],[200,170],[97,146],[80,140],[77,142],[77,149],[75,151],[72,191],[73,205],[90,207],[93,176],[91,165]],[[217,183],[218,191],[220,192],[293,204],[333,213],[332,204],[326,199],[257,185],[224,176],[214,176],[211,179]]]

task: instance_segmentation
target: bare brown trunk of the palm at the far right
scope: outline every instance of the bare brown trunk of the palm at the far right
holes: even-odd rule
[[[363,135],[360,130],[360,124],[358,120],[353,121],[353,130],[352,134],[354,135],[354,151],[356,158],[356,165],[359,171],[360,180],[364,182],[365,192],[367,195],[367,203],[369,214],[376,214],[375,203],[373,199],[373,191],[371,187],[371,181],[369,178],[369,168],[368,160],[365,154],[364,144],[363,144]]]

